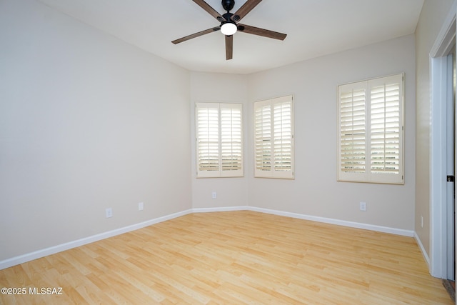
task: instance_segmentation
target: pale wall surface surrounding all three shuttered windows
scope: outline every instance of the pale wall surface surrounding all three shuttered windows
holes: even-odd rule
[[[246,135],[245,176],[194,178],[193,207],[247,205],[413,231],[416,178],[414,46],[414,36],[410,35],[248,76],[191,72],[191,105],[198,101],[242,102]],[[405,185],[337,182],[338,84],[401,72],[406,73]],[[296,179],[253,178],[253,101],[287,94],[295,96]],[[194,134],[194,125],[191,130]],[[196,169],[194,145],[192,169]],[[211,191],[217,191],[217,199],[211,199]],[[368,205],[366,212],[359,211],[361,201]]]

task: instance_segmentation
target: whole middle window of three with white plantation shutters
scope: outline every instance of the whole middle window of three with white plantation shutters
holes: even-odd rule
[[[294,179],[293,96],[254,103],[254,176]]]

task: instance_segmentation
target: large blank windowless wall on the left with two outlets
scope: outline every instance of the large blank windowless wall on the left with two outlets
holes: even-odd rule
[[[0,261],[191,208],[189,71],[35,0],[0,41]]]

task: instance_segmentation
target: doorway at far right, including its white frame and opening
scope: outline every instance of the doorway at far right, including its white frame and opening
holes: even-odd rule
[[[455,280],[454,173],[456,160],[456,11],[446,18],[431,56],[431,210],[430,271]]]

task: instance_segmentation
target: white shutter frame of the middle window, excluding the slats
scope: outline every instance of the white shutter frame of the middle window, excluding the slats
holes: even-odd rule
[[[278,122],[278,120],[275,120],[275,106],[281,106],[281,105],[286,105],[290,104],[289,110],[285,109],[284,111],[290,111],[290,116],[286,119],[284,119],[284,122],[281,120]],[[263,124],[263,122],[258,121],[258,109],[265,108],[265,107],[270,107],[269,109],[269,121],[268,123],[270,126],[267,126],[266,129],[269,131],[265,131],[265,134],[268,132],[270,135],[263,135],[258,134],[259,129],[263,128],[259,126],[258,124]],[[278,110],[279,111],[279,110]],[[282,110],[281,110],[282,111]],[[259,114],[260,115],[260,114]],[[263,119],[267,119],[267,116],[264,116],[263,114],[261,115]],[[294,164],[295,164],[295,143],[294,143],[294,127],[293,127],[293,95],[288,95],[288,96],[280,96],[276,97],[273,99],[266,99],[262,101],[256,101],[253,103],[253,157],[254,157],[254,177],[255,178],[271,178],[271,179],[295,179],[295,169],[294,169]],[[262,119],[262,120],[263,120]],[[288,120],[288,121],[287,121]],[[274,135],[274,124],[276,121],[276,129],[280,128],[285,129],[285,136],[281,136],[281,138],[277,138],[277,141],[280,141],[280,144],[276,144],[276,147],[281,147],[280,151],[278,152],[278,155],[283,156],[285,155],[286,157],[284,158],[278,158],[277,160],[279,161],[274,161],[275,159],[275,135]],[[284,125],[284,126],[283,126]],[[278,127],[279,126],[279,127]],[[288,132],[288,129],[290,131]],[[272,140],[273,139],[273,140]],[[261,142],[268,142],[267,144],[261,144]],[[284,143],[284,145],[282,145]],[[289,144],[290,143],[290,144]],[[262,149],[262,147],[267,147],[269,149],[269,153],[266,155],[267,157],[265,159],[263,158],[258,158],[259,151]],[[277,150],[277,149],[276,149]],[[290,150],[290,151],[289,151]],[[264,155],[264,153],[262,153]],[[287,157],[289,156],[289,157]],[[286,162],[283,163],[283,160]],[[265,167],[263,166],[258,166],[258,164],[269,164]],[[290,163],[290,166],[287,165]],[[278,164],[278,166],[276,166]],[[281,169],[281,164],[286,164],[283,166],[283,169]],[[269,168],[269,169],[268,169]],[[285,169],[284,169],[285,168]]]

